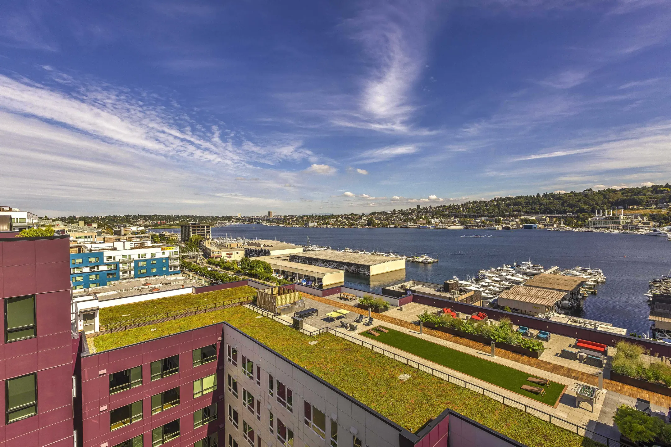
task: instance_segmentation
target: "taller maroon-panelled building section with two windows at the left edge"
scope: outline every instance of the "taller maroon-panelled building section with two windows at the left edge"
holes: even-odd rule
[[[70,239],[15,235],[0,233],[0,446],[72,447]]]

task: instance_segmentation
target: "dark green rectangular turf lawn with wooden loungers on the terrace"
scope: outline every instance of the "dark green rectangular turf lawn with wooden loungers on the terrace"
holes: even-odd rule
[[[554,406],[557,399],[562,395],[562,391],[564,391],[564,385],[556,382],[550,382],[551,385],[550,387],[546,387],[544,396],[524,391],[523,389],[520,389],[522,385],[531,385],[533,387],[539,386],[527,381],[528,377],[535,376],[523,371],[517,371],[517,369],[499,363],[480,359],[474,355],[462,353],[460,350],[448,348],[442,344],[433,343],[429,340],[406,334],[405,332],[399,332],[398,330],[386,327],[384,328],[389,330],[389,332],[384,333],[382,331],[375,331],[379,332],[380,335],[374,336],[368,334],[366,331],[362,332],[362,335],[378,342],[389,344],[389,346],[403,349],[408,353],[427,359],[438,365],[443,365],[444,367],[454,369],[455,371],[460,371],[461,373],[468,374],[471,377],[476,377],[477,379],[497,385],[501,388],[509,389],[510,391],[514,391],[525,397],[531,397],[531,399],[546,403],[550,406]]]

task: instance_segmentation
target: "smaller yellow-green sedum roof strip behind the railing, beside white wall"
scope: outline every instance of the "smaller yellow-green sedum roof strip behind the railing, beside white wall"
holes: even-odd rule
[[[206,292],[204,294],[184,294],[168,298],[158,298],[158,300],[122,304],[121,306],[101,309],[99,312],[100,324],[111,324],[145,316],[167,314],[175,310],[236,300],[237,298],[244,298],[246,296],[256,296],[256,289],[249,285],[243,285],[242,287],[216,290],[215,292]]]

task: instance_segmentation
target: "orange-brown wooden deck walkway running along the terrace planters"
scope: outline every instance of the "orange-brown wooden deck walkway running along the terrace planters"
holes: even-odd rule
[[[305,296],[305,298],[309,298],[310,300],[315,300],[317,302],[321,302],[324,304],[331,304],[331,306],[337,304],[342,309],[368,316],[368,312],[366,310],[350,306],[349,304],[341,303],[340,301],[336,302],[335,300],[330,300],[329,298],[321,298],[320,296],[314,296],[306,294],[304,292],[301,292],[301,296]],[[374,314],[373,317],[376,320],[395,324],[396,326],[401,326],[403,328],[411,330],[419,330],[419,326],[417,326],[417,324],[413,324],[405,320],[394,318],[392,316],[388,316],[385,314]],[[440,330],[423,328],[423,332],[425,334],[435,336],[437,338],[442,338],[443,340],[447,340],[452,343],[461,344],[462,346],[468,346],[469,348],[481,350],[484,353],[489,353],[491,350],[491,346],[487,344],[482,344],[480,342],[468,340],[467,338],[462,338],[456,335],[448,334],[446,332],[441,332]],[[509,359],[511,361],[515,361],[517,363],[521,363],[523,365],[528,365],[530,367],[534,367],[542,371],[548,371],[548,373],[554,373],[557,375],[568,377],[569,379],[573,379],[583,383],[588,383],[589,385],[596,386],[599,384],[599,378],[596,375],[591,375],[588,373],[584,373],[582,371],[578,371],[576,369],[556,365],[555,363],[551,363],[548,361],[533,359],[525,355],[511,353],[509,350],[497,349],[497,356],[503,357],[504,359]],[[660,407],[671,407],[671,397],[658,393],[653,393],[652,391],[646,391],[645,389],[632,387],[631,385],[627,385],[625,383],[603,379],[603,387],[605,389],[615,391],[615,393],[620,393],[629,397],[641,397],[641,399],[646,399],[650,401],[650,403],[660,405]]]

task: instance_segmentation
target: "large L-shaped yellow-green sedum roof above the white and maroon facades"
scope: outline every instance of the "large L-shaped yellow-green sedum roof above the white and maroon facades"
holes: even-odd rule
[[[235,306],[98,336],[94,343],[98,350],[110,349],[226,321],[411,432],[449,407],[529,447],[603,445],[333,334],[310,337],[258,316]],[[119,340],[124,342],[118,344]],[[308,344],[313,340],[319,342]],[[399,380],[403,373],[411,378]]]

